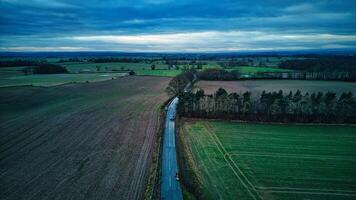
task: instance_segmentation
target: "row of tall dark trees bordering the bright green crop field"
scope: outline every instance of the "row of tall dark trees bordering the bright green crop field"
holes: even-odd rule
[[[178,113],[184,117],[233,119],[258,122],[356,123],[356,101],[351,92],[227,93],[203,90],[179,95]]]

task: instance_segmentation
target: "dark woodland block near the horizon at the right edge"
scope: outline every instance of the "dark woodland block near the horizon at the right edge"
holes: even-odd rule
[[[307,72],[356,72],[356,56],[327,56],[286,60],[279,68]]]

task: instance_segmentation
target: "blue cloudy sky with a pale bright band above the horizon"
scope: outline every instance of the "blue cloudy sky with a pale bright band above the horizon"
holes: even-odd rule
[[[0,0],[0,51],[356,49],[356,0]]]

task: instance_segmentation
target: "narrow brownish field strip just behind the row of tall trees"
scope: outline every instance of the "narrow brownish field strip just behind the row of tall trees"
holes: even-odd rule
[[[330,91],[335,93],[353,92],[356,94],[355,82],[338,81],[304,81],[304,80],[245,80],[245,81],[199,81],[197,88],[204,89],[206,94],[213,94],[217,89],[224,88],[228,92],[251,91],[260,93],[265,91],[284,92],[297,91],[319,92]]]

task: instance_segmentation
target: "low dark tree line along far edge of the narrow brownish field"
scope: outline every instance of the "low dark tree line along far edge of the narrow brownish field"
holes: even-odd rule
[[[238,70],[206,69],[197,72],[200,80],[240,80],[240,79],[296,79],[296,80],[340,80],[356,81],[356,71],[325,71],[325,72],[257,72],[241,75]]]

